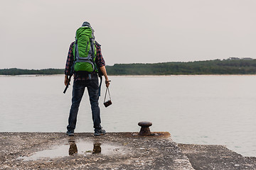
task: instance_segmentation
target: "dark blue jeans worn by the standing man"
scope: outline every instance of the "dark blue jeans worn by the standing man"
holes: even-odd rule
[[[77,122],[78,108],[80,106],[80,101],[82,100],[82,95],[84,94],[85,87],[90,97],[90,105],[92,109],[92,120],[93,128],[101,129],[100,121],[100,107],[99,107],[99,81],[97,74],[92,76],[92,79],[78,80],[74,81],[73,84],[73,94],[72,94],[72,106],[70,108],[70,115],[68,118],[68,131],[73,132],[75,130],[75,125]]]

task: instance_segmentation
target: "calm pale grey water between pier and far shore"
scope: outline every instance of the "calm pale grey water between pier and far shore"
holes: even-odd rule
[[[71,90],[63,75],[0,77],[0,132],[65,132]],[[226,145],[256,156],[256,76],[110,77],[112,106],[105,108],[107,132],[168,131],[175,142]],[[87,93],[75,132],[92,132]]]

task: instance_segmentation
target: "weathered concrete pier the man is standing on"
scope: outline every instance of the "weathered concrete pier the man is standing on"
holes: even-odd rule
[[[169,132],[0,132],[0,169],[256,169],[220,145],[186,145]]]

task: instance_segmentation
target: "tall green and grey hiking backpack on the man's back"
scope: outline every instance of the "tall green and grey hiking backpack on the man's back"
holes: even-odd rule
[[[75,72],[97,72],[95,36],[90,23],[85,22],[76,31],[73,55],[75,61],[73,69]]]

